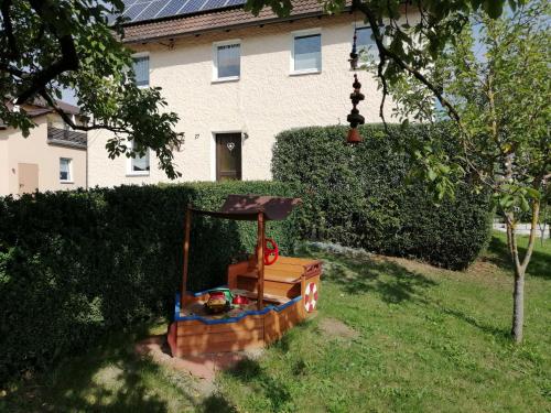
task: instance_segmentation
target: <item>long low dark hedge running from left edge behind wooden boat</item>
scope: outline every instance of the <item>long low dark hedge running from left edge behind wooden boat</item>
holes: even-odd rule
[[[45,368],[99,335],[173,311],[185,207],[217,209],[228,194],[292,195],[270,182],[121,186],[0,198],[0,382]],[[283,251],[293,215],[268,222]],[[196,217],[190,284],[225,283],[251,251],[256,224]]]

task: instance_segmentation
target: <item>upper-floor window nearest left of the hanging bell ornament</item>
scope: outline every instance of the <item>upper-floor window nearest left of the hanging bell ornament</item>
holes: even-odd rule
[[[295,33],[293,35],[292,74],[322,72],[322,35]]]

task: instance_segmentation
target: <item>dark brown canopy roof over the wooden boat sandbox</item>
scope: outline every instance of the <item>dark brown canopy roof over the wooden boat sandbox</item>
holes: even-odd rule
[[[258,213],[263,211],[268,220],[285,219],[293,208],[301,203],[300,198],[281,198],[278,196],[228,195],[219,211],[192,208],[196,214],[210,217],[257,220]]]

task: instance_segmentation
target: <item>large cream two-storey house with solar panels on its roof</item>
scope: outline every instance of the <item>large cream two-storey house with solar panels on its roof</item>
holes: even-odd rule
[[[238,6],[206,10],[216,3]],[[271,10],[255,18],[242,3],[127,1],[133,21],[125,28],[125,42],[136,52],[138,84],[161,87],[168,110],[181,118],[176,130],[185,142],[175,152],[181,181],[270,178],[279,132],[346,124],[355,25],[359,47],[375,53],[361,14],[329,17],[316,0],[300,0],[289,18]],[[380,122],[377,81],[367,72],[359,79],[366,95],[360,113],[367,122]],[[109,160],[108,137],[105,131],[88,135],[91,186],[169,181],[154,153]]]

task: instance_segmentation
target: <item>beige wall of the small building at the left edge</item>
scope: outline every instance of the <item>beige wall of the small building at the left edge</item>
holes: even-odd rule
[[[39,165],[41,192],[86,187],[86,150],[48,144],[46,117],[35,122],[28,138],[14,129],[0,131],[0,195],[19,193],[19,163]],[[73,160],[73,183],[60,182],[60,157]]]

